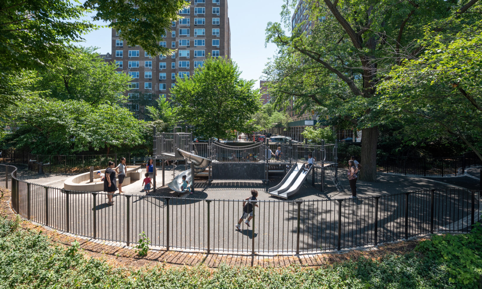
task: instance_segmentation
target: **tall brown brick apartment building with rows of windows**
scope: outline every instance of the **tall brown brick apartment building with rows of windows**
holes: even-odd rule
[[[175,78],[188,78],[194,69],[212,57],[231,58],[231,32],[228,18],[228,0],[190,0],[190,6],[179,11],[183,16],[173,22],[172,31],[163,37],[161,45],[176,50],[172,55],[148,55],[139,47],[130,47],[112,29],[112,61],[119,72],[131,75],[133,80],[127,92],[128,107],[139,118],[145,118],[144,107],[137,101],[139,95],[147,100],[171,100],[169,90]]]

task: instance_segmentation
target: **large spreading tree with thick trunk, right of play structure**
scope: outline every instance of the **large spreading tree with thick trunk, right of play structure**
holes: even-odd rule
[[[391,66],[423,52],[416,39],[425,24],[465,13],[476,2],[305,0],[308,20],[292,27],[292,35],[280,23],[268,23],[266,40],[279,48],[265,70],[270,92],[277,104],[295,96],[299,109],[327,109],[363,129],[361,178],[375,181],[378,85]],[[283,6],[291,26],[289,3],[298,1]],[[307,22],[313,27],[304,31]]]

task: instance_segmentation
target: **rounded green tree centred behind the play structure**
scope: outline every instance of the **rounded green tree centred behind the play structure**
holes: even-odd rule
[[[206,58],[189,78],[176,78],[171,95],[179,116],[205,137],[225,138],[229,130],[243,131],[259,109],[260,94],[254,80],[240,78],[238,66],[221,57]]]

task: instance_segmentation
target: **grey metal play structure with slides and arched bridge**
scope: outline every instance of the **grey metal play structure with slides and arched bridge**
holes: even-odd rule
[[[337,142],[335,144],[308,145],[302,143],[269,144],[259,142],[244,146],[223,144],[214,139],[205,143],[193,142],[192,133],[174,132],[157,133],[154,128],[153,158],[161,160],[162,186],[165,185],[164,160],[186,161],[186,171],[175,175],[168,186],[175,192],[182,193],[187,188],[182,187],[182,176],[187,176],[187,184],[194,190],[194,176],[207,176],[208,183],[214,180],[261,180],[268,185],[269,174],[284,172],[286,175],[280,184],[269,188],[268,193],[287,199],[295,194],[304,180],[312,175],[315,184],[317,174],[321,174],[321,191],[324,191],[325,170],[334,169],[333,182],[339,190],[343,190],[338,182]],[[238,144],[240,145],[240,144]],[[278,154],[276,154],[279,149]],[[308,155],[314,158],[314,164],[304,169]],[[154,166],[155,166],[154,161]],[[174,167],[175,169],[175,167]],[[155,168],[154,168],[155,171]],[[153,176],[154,191],[156,174]]]

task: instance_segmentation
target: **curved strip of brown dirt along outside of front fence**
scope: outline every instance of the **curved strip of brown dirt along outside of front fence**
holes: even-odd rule
[[[16,217],[16,214],[13,213],[13,210],[10,207],[10,196],[9,190],[0,188],[0,215],[13,219]],[[300,256],[227,255],[149,250],[146,256],[140,258],[133,249],[91,242],[84,238],[68,236],[26,220],[21,221],[20,224],[24,230],[34,230],[36,232],[41,232],[42,235],[48,236],[53,245],[67,247],[70,246],[72,242],[78,241],[82,252],[88,257],[105,260],[107,263],[116,267],[129,266],[134,268],[160,263],[171,266],[205,264],[209,267],[217,267],[220,263],[261,267],[285,267],[292,264],[301,264],[303,266],[316,268],[348,260],[356,261],[360,258],[381,259],[387,254],[405,254],[413,251],[415,246],[420,241],[424,240],[418,239],[389,243],[380,245],[378,248],[369,248],[366,250],[349,250],[342,253],[305,254]]]

